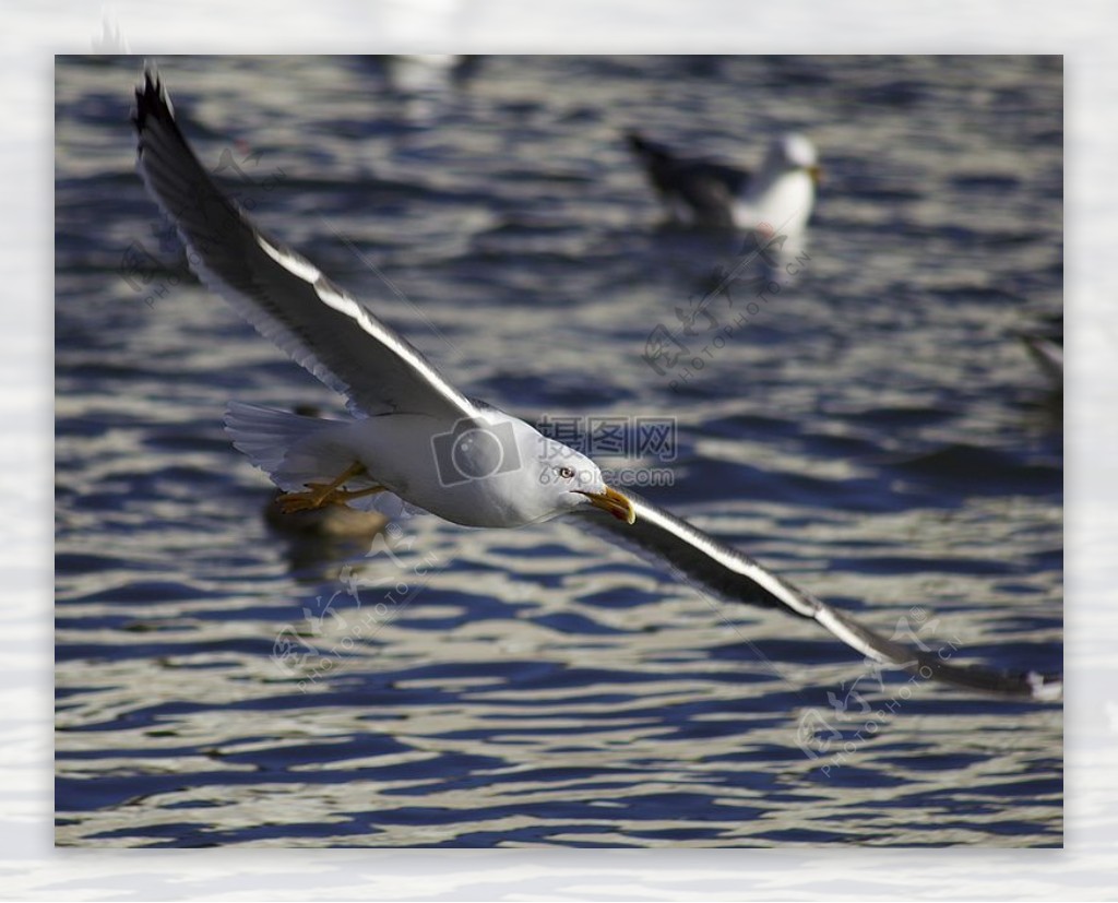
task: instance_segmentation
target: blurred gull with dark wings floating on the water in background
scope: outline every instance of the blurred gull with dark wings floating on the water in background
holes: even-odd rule
[[[774,141],[756,173],[678,156],[636,133],[627,139],[673,219],[784,235],[792,245],[802,244],[819,171],[815,146],[803,135]]]

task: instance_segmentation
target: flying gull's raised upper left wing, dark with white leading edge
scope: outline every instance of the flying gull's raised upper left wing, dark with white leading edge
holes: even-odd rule
[[[295,251],[269,238],[214,182],[144,73],[133,116],[136,167],[174,224],[191,268],[354,414],[474,417],[474,406],[410,343]]]

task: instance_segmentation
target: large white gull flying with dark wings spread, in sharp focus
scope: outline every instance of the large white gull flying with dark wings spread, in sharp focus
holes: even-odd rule
[[[960,667],[887,639],[685,521],[607,487],[589,458],[467,399],[313,264],[260,231],[198,162],[152,73],[136,91],[135,124],[144,184],[201,279],[349,401],[350,420],[230,405],[236,446],[281,488],[309,496],[309,505],[395,496],[472,526],[576,515],[703,591],[814,619],[877,662],[992,692],[1059,692],[1032,672]]]

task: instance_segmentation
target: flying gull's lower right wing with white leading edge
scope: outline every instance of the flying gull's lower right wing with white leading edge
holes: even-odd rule
[[[650,563],[669,568],[702,592],[711,592],[726,601],[779,608],[802,618],[811,618],[868,658],[927,679],[1039,700],[1060,696],[1062,684],[1059,677],[1052,675],[1036,672],[1006,674],[954,665],[935,650],[927,652],[888,639],[629,489],[625,491],[625,495],[636,510],[636,522],[633,524],[599,512],[580,516],[616,544],[633,550]]]

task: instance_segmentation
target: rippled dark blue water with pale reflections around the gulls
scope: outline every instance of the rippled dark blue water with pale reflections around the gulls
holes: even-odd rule
[[[561,521],[274,531],[226,402],[340,400],[186,275],[138,70],[57,65],[58,844],[1062,843],[1058,705],[879,679]],[[470,393],[674,416],[670,460],[601,463],[887,634],[1060,669],[1062,415],[1017,339],[1061,310],[1058,59],[162,73],[254,215]],[[745,164],[798,129],[826,171],[802,272],[686,379],[645,340],[740,241],[662,226],[633,126]]]

